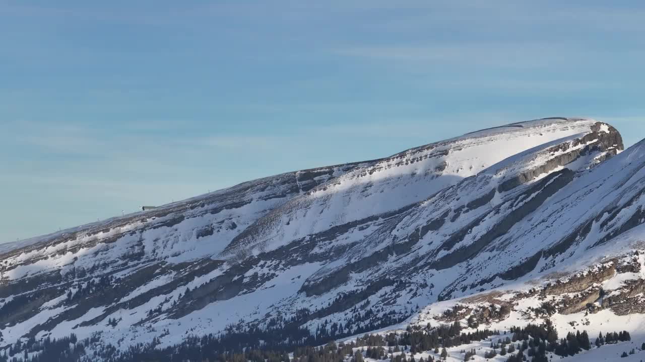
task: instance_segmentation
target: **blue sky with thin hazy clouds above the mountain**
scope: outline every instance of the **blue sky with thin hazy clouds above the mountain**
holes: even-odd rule
[[[0,0],[0,243],[543,117],[645,138],[642,1]]]

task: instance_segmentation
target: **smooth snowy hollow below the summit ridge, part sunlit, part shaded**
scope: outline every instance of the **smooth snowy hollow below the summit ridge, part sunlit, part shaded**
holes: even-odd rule
[[[259,218],[226,247],[275,249],[330,227],[419,202],[482,169],[546,142],[586,133],[586,119],[543,119],[485,129],[404,151],[313,188]]]

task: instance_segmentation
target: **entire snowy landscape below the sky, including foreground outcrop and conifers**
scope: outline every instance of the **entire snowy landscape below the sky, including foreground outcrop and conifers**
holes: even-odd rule
[[[518,122],[0,244],[0,361],[641,361],[644,142]]]

